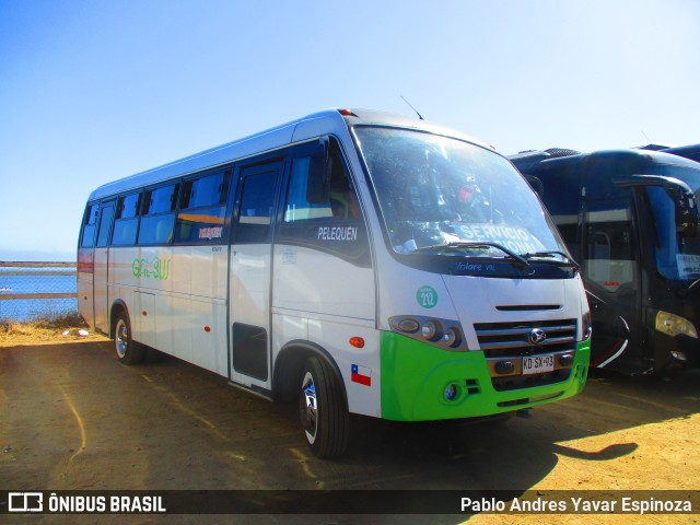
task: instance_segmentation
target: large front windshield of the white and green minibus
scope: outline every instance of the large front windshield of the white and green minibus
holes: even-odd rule
[[[396,253],[568,257],[534,191],[497,153],[421,131],[353,129]]]

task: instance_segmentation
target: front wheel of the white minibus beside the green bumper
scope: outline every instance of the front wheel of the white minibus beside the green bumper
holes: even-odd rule
[[[306,361],[299,413],[306,443],[315,456],[335,457],[346,452],[350,418],[340,382],[324,360]]]

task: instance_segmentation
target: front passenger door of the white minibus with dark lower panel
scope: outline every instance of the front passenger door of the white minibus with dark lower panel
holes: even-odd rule
[[[266,162],[238,172],[235,231],[231,247],[231,378],[269,390],[272,225],[284,164]]]

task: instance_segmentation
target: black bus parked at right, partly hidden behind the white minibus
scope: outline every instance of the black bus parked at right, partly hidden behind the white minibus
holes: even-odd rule
[[[648,374],[700,363],[700,163],[643,150],[511,158],[552,215],[593,316],[591,365]]]

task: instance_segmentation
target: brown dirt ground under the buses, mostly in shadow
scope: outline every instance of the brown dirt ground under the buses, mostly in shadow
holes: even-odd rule
[[[583,395],[498,427],[357,418],[348,454],[319,460],[306,450],[293,407],[162,354],[124,366],[108,340],[66,337],[0,341],[0,489],[508,489],[544,497],[700,489],[697,372],[663,380],[594,372]],[[7,517],[20,516],[0,521]],[[21,517],[7,523],[89,516]],[[101,522],[205,523],[203,516],[124,517]],[[380,517],[209,516],[206,523],[700,523],[700,514]]]

